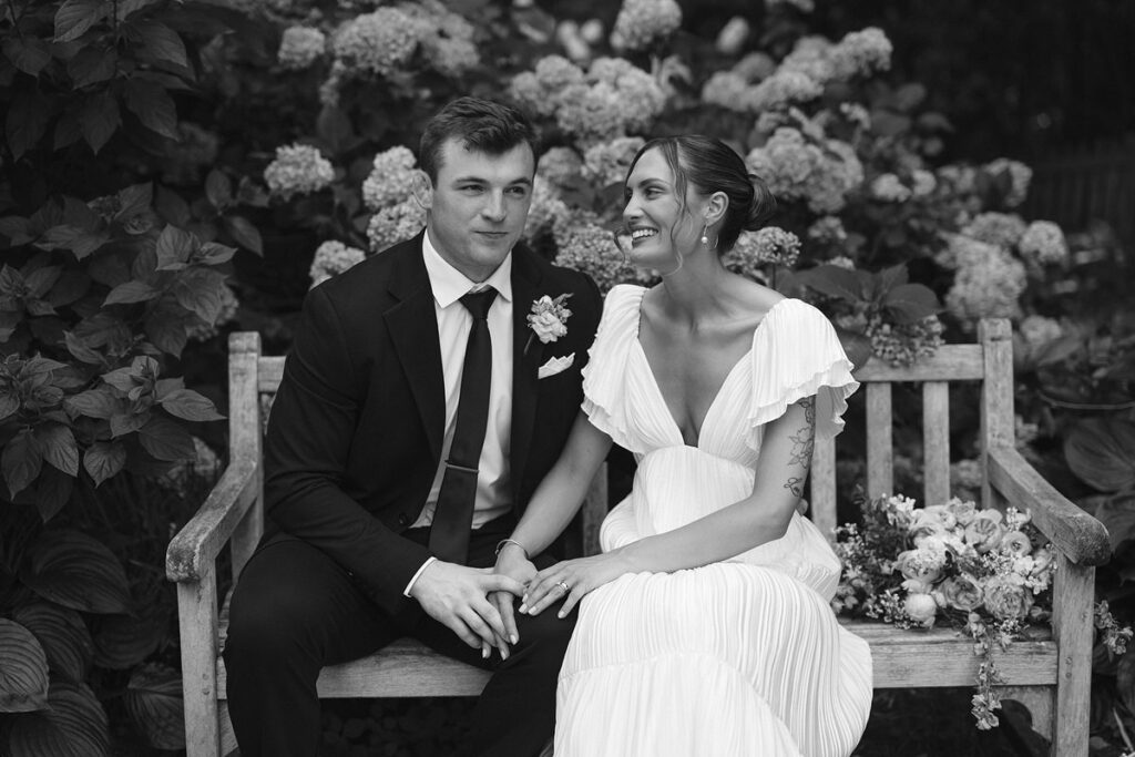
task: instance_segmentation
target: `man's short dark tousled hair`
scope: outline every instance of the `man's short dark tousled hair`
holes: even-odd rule
[[[457,98],[430,118],[422,132],[418,163],[431,182],[437,180],[442,148],[451,138],[460,140],[466,150],[490,155],[527,142],[535,161],[539,135],[528,116],[515,108],[480,98]]]

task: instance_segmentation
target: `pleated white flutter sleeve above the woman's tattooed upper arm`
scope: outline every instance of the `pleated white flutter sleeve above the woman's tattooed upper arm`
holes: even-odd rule
[[[843,430],[847,398],[859,388],[835,328],[800,300],[783,300],[768,311],[753,336],[753,390],[747,443],[759,448],[759,429],[792,403],[816,395],[816,435]]]

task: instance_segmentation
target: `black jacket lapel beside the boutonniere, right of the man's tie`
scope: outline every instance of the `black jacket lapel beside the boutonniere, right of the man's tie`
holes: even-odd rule
[[[544,343],[532,339],[528,327],[528,313],[532,301],[539,298],[541,274],[532,260],[533,253],[516,249],[512,260],[512,451],[510,469],[512,476],[513,506],[523,480],[524,465],[536,422],[537,370],[544,353]],[[526,353],[524,347],[528,347]]]

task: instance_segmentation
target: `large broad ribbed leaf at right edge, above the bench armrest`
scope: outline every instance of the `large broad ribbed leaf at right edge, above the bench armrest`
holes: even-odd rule
[[[1135,423],[1123,418],[1088,418],[1065,438],[1073,472],[1100,491],[1135,487]]]

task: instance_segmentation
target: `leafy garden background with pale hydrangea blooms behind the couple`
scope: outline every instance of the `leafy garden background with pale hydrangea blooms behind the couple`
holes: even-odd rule
[[[1135,176],[1130,3],[8,0],[2,8],[0,752],[182,749],[163,553],[222,464],[225,336],[254,329],[269,351],[286,351],[313,276],[413,227],[400,203],[412,154],[400,162],[396,151],[412,150],[424,119],[465,92],[536,110],[539,96],[526,102],[533,92],[562,98],[557,111],[540,115],[553,151],[541,159],[530,238],[605,286],[632,276],[614,262],[607,234],[620,161],[637,138],[704,131],[764,161],[773,183],[782,171],[810,171],[810,194],[793,195],[784,182],[772,221],[780,233],[748,239],[730,262],[824,308],[857,362],[917,360],[943,338],[972,338],[981,314],[1011,317],[1018,443],[1109,527],[1113,558],[1099,571],[1096,595],[1130,620],[1130,226],[1107,209],[1040,201],[1100,141],[1120,145],[1103,162],[1126,160]],[[629,20],[620,24],[621,14]],[[734,18],[746,35],[735,34]],[[855,36],[872,27],[885,45]],[[384,34],[381,45],[367,43]],[[823,78],[840,54],[855,69]],[[570,59],[578,74],[552,68],[585,89],[541,89],[549,56]],[[616,62],[596,68],[603,58]],[[810,85],[793,79],[793,90],[784,78],[793,65],[822,84],[808,94]],[[733,77],[716,83],[737,89],[715,95],[711,83],[726,73]],[[768,79],[780,89],[757,91]],[[613,103],[612,90],[624,96]],[[302,149],[281,157],[278,149],[292,145]],[[1031,191],[1022,182],[1028,166]],[[1117,180],[1109,192],[1130,193],[1126,186]],[[819,197],[831,204],[817,209]],[[973,284],[983,277],[999,291]],[[951,404],[975,406],[969,399]],[[920,491],[917,404],[901,393],[897,402],[897,483]],[[861,407],[851,412],[854,428]],[[976,483],[976,415],[965,413],[951,427],[961,495]],[[851,491],[861,478],[854,453],[840,461],[841,519],[855,519]],[[1112,659],[1098,649],[1094,673],[1092,749],[1129,752],[1135,655]],[[1007,727],[974,731],[966,697],[877,692],[860,754],[1037,748],[1016,710]],[[468,707],[329,705],[326,754],[447,754]]]

